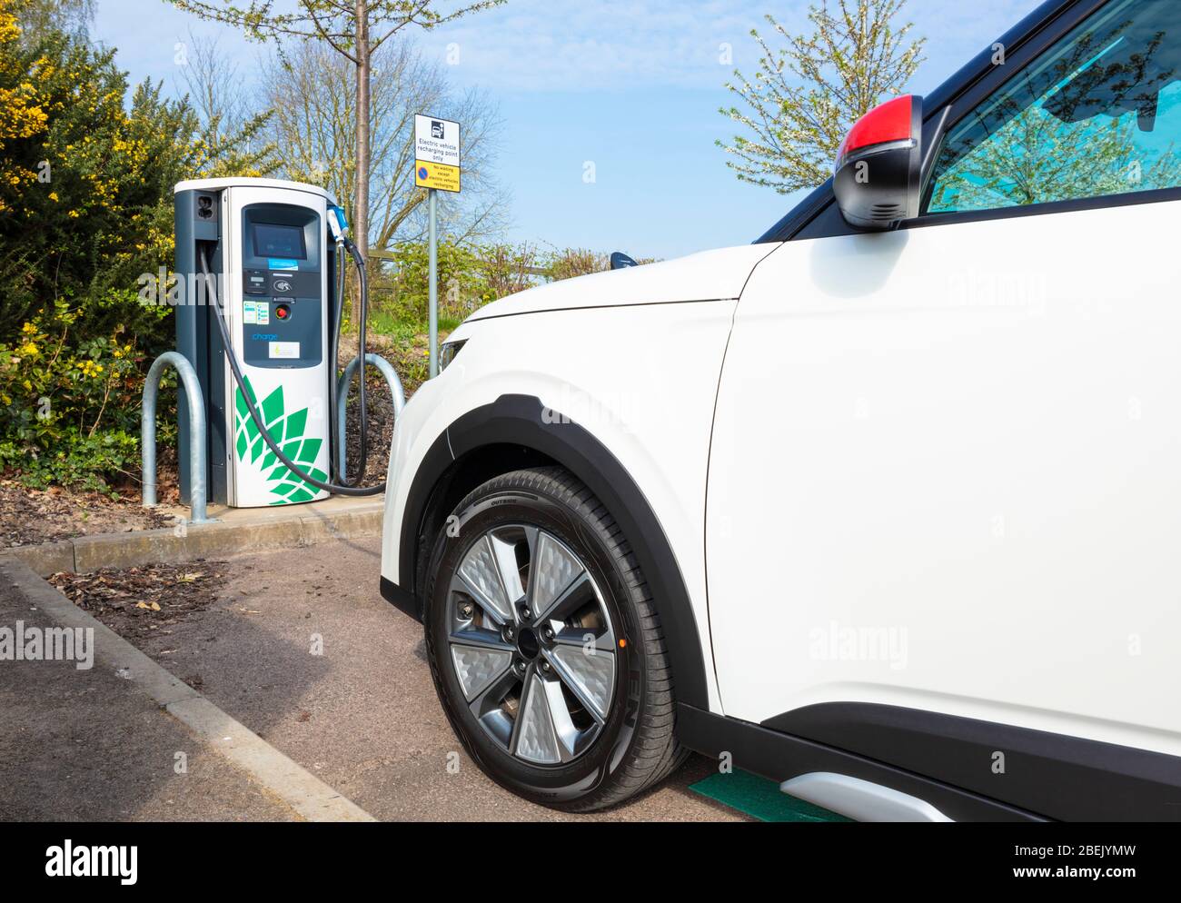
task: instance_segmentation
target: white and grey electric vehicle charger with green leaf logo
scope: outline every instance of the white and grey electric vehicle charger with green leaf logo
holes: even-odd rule
[[[348,484],[337,466],[345,249],[358,266],[363,310],[367,279],[334,198],[294,182],[190,181],[175,188],[175,217],[176,346],[202,388],[209,502],[263,508],[384,491]],[[359,338],[364,355],[364,316]],[[361,471],[364,392],[361,379]],[[194,431],[184,405],[178,414],[188,504]]]

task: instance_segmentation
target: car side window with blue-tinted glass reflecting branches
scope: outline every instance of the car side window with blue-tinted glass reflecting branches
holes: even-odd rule
[[[1181,2],[1113,0],[957,123],[924,212],[1181,185]]]

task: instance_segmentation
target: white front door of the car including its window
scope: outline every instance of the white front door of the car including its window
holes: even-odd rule
[[[743,292],[707,488],[727,715],[1181,754],[1181,4],[1045,46],[953,102],[918,220],[789,241]]]

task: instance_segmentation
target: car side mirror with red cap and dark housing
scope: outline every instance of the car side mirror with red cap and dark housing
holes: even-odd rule
[[[836,152],[833,194],[849,225],[883,231],[919,215],[922,98],[888,100],[854,123]]]

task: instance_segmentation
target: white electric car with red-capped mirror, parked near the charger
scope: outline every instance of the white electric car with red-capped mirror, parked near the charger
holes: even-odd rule
[[[1181,818],[1181,2],[1051,0],[756,243],[476,312],[383,595],[495,780]],[[709,215],[704,211],[703,215]]]

